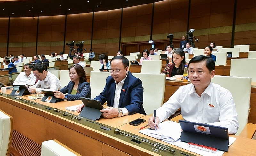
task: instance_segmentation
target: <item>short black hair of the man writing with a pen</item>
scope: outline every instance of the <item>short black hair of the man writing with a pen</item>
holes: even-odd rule
[[[206,68],[208,68],[209,72],[215,70],[215,62],[213,61],[213,59],[209,56],[204,56],[204,55],[198,55],[193,57],[188,63],[188,68],[191,63],[204,62],[204,61],[206,61]]]

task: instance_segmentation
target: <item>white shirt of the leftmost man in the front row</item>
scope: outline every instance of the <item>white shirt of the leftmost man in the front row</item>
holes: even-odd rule
[[[36,82],[36,77],[34,76],[32,71],[28,76],[25,74],[25,72],[21,72],[13,82],[13,85],[26,85],[26,84],[34,85],[35,82]]]

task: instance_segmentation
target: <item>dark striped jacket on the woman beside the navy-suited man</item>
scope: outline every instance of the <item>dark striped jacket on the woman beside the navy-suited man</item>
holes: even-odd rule
[[[80,97],[91,98],[91,87],[88,82],[79,82],[76,95],[71,95],[75,82],[70,81],[68,85],[59,91],[63,94],[68,93],[68,101],[80,100]]]

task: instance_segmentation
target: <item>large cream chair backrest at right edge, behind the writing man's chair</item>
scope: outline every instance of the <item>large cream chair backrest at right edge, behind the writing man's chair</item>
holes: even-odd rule
[[[255,66],[256,58],[231,59],[230,76],[249,77],[256,81]]]

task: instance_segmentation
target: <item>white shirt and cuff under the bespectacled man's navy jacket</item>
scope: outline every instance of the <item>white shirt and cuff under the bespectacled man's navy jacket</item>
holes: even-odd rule
[[[126,77],[127,77],[127,74],[126,74]],[[122,87],[123,87],[123,84],[124,84],[124,81],[125,81],[126,77],[122,81],[120,81],[118,84],[115,81],[116,89],[115,89],[114,105],[113,105],[114,108],[119,108],[120,94],[121,94]],[[122,110],[122,113],[123,113],[122,116],[129,114],[129,111],[127,110],[127,108],[124,107],[124,108],[120,108],[120,109]]]

